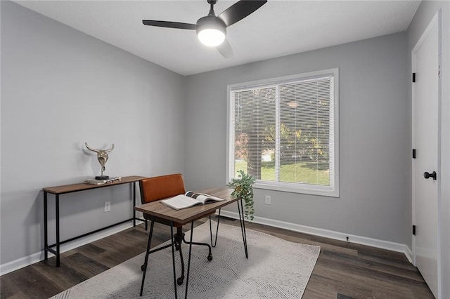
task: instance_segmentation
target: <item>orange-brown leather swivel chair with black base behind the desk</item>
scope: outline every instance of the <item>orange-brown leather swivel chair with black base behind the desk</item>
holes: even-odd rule
[[[170,175],[161,175],[153,178],[144,178],[143,180],[139,181],[139,187],[141,190],[141,202],[142,204],[146,204],[150,201],[158,201],[161,199],[167,199],[168,197],[174,197],[179,194],[186,193],[186,190],[184,189],[184,180],[183,175],[181,173],[176,174],[170,174]],[[147,220],[152,220],[152,216],[143,214],[144,218],[146,219],[146,230],[147,230]],[[169,221],[155,217],[155,222],[162,223],[165,225],[170,225]],[[181,259],[181,277],[179,277],[176,282],[177,284],[181,285],[184,281],[184,260],[183,260],[183,253],[181,251],[181,242],[184,242],[185,244],[191,244],[189,241],[186,241],[184,239],[184,232],[183,232],[183,225],[181,223],[174,222],[174,227],[176,227],[176,234],[174,235],[174,245],[176,250],[180,252],[180,259]],[[192,242],[193,245],[202,245],[207,246],[209,249],[209,254],[207,256],[208,260],[212,260],[212,253],[211,253],[211,246],[210,244],[206,243],[197,243]],[[162,246],[157,249],[153,249],[152,251],[149,251],[148,253],[153,253],[155,251],[160,251],[161,249],[167,248],[172,246],[172,244]],[[141,266],[141,270],[144,270],[145,264]]]

